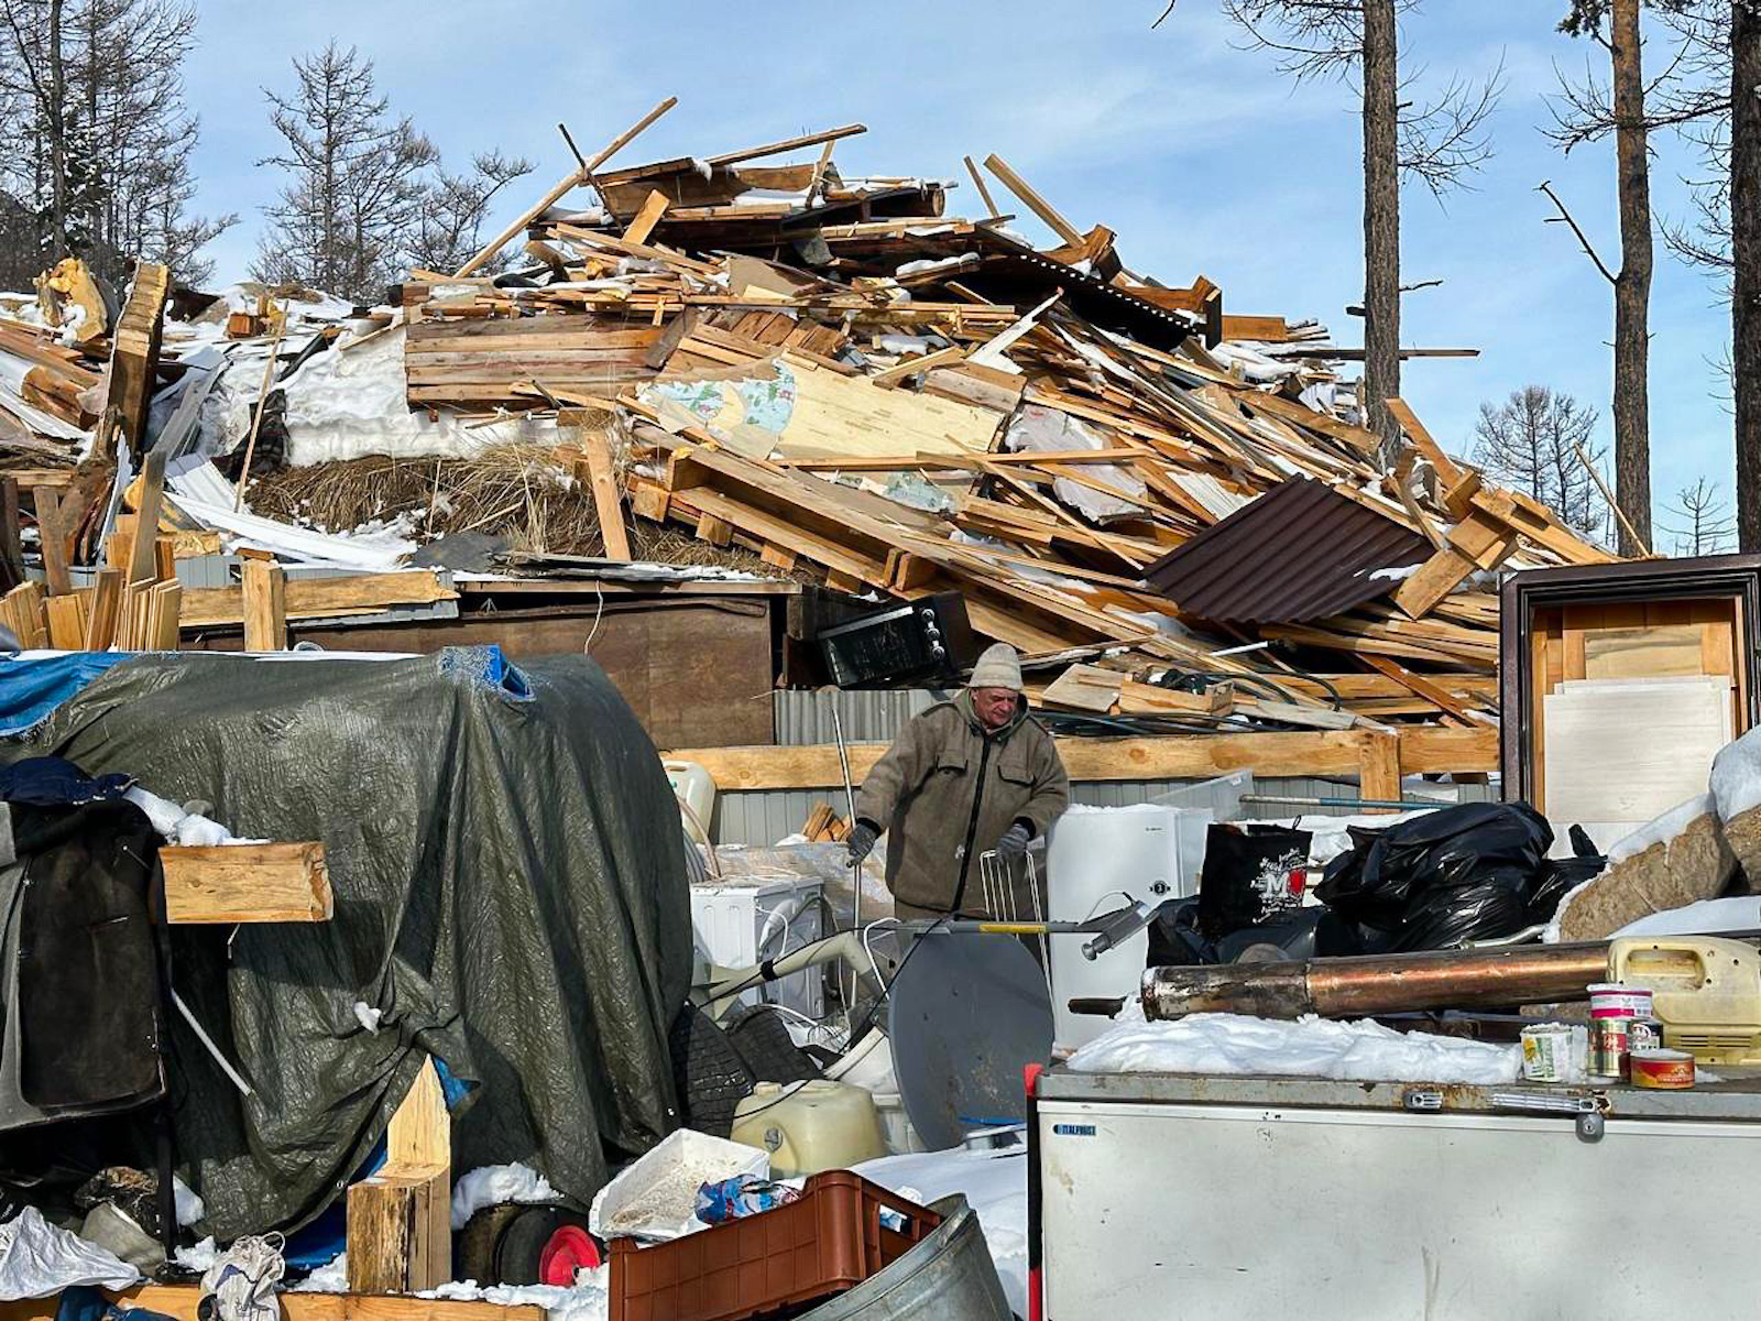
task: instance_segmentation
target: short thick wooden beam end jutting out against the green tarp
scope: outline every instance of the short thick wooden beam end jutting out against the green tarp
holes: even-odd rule
[[[335,914],[324,845],[166,845],[166,921],[329,921]]]

